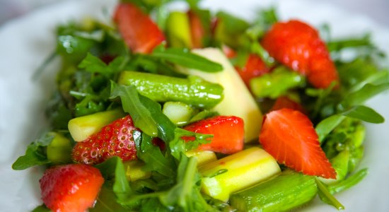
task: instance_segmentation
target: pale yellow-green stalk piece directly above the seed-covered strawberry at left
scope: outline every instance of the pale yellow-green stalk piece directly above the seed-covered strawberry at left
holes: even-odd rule
[[[83,117],[71,119],[68,124],[69,132],[74,141],[84,141],[92,134],[100,131],[103,126],[124,117],[121,109],[96,112]]]

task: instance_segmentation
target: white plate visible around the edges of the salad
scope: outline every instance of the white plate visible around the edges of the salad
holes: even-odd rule
[[[54,89],[54,73],[47,71],[39,81],[32,81],[33,71],[54,49],[54,28],[69,20],[98,16],[108,20],[116,1],[64,1],[13,20],[0,28],[0,211],[31,211],[40,205],[37,167],[11,170],[11,164],[23,155],[25,146],[44,129],[43,108]],[[313,25],[329,23],[335,37],[364,35],[389,54],[389,30],[364,16],[347,13],[328,4],[311,1],[205,1],[211,9],[223,8],[243,18],[252,18],[260,6],[277,6],[281,19],[300,18]],[[58,64],[52,64],[52,72]],[[368,105],[389,119],[389,95],[373,98]],[[346,211],[389,211],[389,124],[366,124],[366,156],[360,167],[369,175],[352,189],[337,194]],[[302,211],[335,211],[315,200]]]

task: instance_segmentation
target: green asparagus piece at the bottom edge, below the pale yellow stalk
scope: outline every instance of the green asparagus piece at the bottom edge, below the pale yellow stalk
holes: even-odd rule
[[[315,177],[285,170],[276,177],[231,195],[238,211],[289,211],[313,199]]]

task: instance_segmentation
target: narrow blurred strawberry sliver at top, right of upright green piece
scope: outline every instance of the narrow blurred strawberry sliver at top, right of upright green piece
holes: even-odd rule
[[[187,16],[190,22],[190,34],[192,37],[192,47],[193,48],[204,47],[203,40],[205,37],[205,30],[204,30],[204,26],[202,25],[202,21],[200,20],[197,13],[195,13],[192,10],[187,11]]]

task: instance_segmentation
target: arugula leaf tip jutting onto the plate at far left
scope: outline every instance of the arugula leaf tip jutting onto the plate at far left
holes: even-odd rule
[[[39,139],[28,145],[25,155],[20,156],[12,165],[13,170],[25,170],[35,165],[44,165],[50,163],[45,154],[47,147],[54,139],[54,134],[43,134]]]

